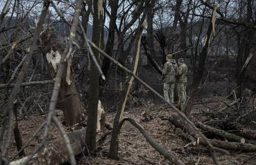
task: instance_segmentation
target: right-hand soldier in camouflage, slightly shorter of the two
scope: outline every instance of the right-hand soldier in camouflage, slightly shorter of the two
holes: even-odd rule
[[[184,64],[184,59],[180,58],[178,60],[178,73],[177,73],[177,91],[178,96],[181,101],[181,108],[184,109],[186,105],[186,99],[187,99],[187,66]]]

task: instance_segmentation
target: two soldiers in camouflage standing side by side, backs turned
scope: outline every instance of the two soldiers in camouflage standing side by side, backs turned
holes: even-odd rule
[[[166,56],[166,63],[163,67],[162,80],[164,82],[164,99],[173,104],[174,87],[177,82],[177,91],[179,100],[181,101],[181,108],[184,109],[186,105],[186,88],[187,88],[187,66],[184,64],[184,59],[178,60],[179,67],[171,54]]]

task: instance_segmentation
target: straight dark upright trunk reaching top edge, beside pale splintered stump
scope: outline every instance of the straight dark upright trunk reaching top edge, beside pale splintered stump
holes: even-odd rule
[[[101,22],[102,22],[103,1],[93,1],[93,34],[92,42],[100,47],[101,40]],[[100,53],[93,48],[93,54],[96,59],[99,59]],[[98,99],[99,99],[99,71],[95,64],[91,62],[90,69],[90,88],[89,88],[89,105],[88,105],[88,120],[85,143],[89,151],[95,151],[96,147],[96,122],[98,114]]]

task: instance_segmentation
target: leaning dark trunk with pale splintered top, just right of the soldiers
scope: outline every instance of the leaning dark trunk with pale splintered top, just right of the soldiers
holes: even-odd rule
[[[213,26],[214,26],[215,19],[216,19],[216,10],[217,10],[217,7],[215,7],[215,9],[213,9],[213,14],[211,15],[210,25],[208,26],[207,38],[205,39],[206,40],[205,46],[203,46],[203,49],[199,55],[198,66],[193,74],[193,83],[192,83],[192,90],[190,92],[191,93],[190,99],[189,99],[188,103],[186,104],[186,107],[184,108],[186,114],[190,114],[190,111],[193,106],[193,101],[195,99],[195,95],[198,90],[198,86],[202,80],[203,71],[205,70],[205,59],[207,58],[208,48],[210,46],[211,35],[214,30]]]

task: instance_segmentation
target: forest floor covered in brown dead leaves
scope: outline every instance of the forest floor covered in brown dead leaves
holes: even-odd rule
[[[216,97],[211,99],[198,99],[197,101],[207,102],[204,104],[194,105],[192,111],[192,119],[194,121],[202,121],[203,117],[198,115],[199,112],[207,111],[208,107],[220,106],[222,98]],[[198,102],[198,103],[199,103]],[[211,103],[208,103],[211,102]],[[59,119],[63,120],[61,111],[57,111]],[[164,145],[169,151],[173,152],[185,164],[213,164],[211,155],[207,147],[202,145],[189,146],[184,148],[189,141],[182,138],[182,130],[174,129],[168,117],[176,114],[173,109],[163,104],[154,104],[151,102],[142,103],[132,109],[127,109],[124,116],[134,118],[142,127],[147,130],[150,135],[155,138],[156,142]],[[22,135],[23,143],[32,137],[40,124],[45,121],[47,114],[30,117],[19,121],[19,129]],[[106,113],[106,121],[113,124],[115,112]],[[67,129],[69,132],[70,129]],[[102,132],[101,132],[102,133]],[[52,124],[50,127],[48,143],[59,138],[58,129]],[[9,150],[10,158],[17,153],[12,138],[11,150]],[[119,136],[119,160],[111,160],[107,158],[109,151],[109,143],[111,133],[106,137],[101,150],[96,157],[82,156],[78,159],[78,164],[171,164],[163,156],[161,156],[150,144],[145,140],[143,135],[129,122],[125,122]],[[31,153],[33,148],[40,142],[40,135],[33,140],[25,149],[25,153]],[[241,153],[240,151],[231,151],[230,155],[217,153],[220,164],[256,164],[256,153]],[[17,158],[17,157],[16,157]]]

